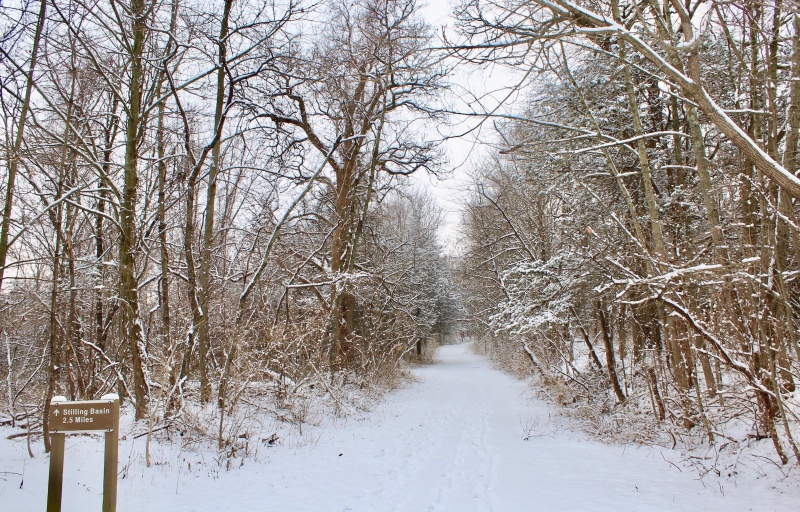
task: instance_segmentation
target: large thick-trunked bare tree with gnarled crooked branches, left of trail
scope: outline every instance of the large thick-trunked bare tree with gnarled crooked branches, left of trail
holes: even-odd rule
[[[286,76],[274,111],[265,115],[321,155],[330,153],[332,139],[342,140],[329,160],[330,358],[342,366],[357,307],[350,286],[379,174],[430,168],[432,144],[402,126],[413,122],[404,116],[419,113],[425,97],[437,90],[440,75],[413,0],[334,2],[328,9],[326,36],[311,48],[307,62]]]

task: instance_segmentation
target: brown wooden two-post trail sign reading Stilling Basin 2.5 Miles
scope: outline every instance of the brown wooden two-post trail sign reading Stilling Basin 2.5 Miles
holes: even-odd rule
[[[104,395],[100,400],[68,402],[63,396],[50,401],[50,477],[47,485],[47,512],[61,512],[64,482],[64,436],[78,432],[105,431],[103,465],[103,512],[117,510],[117,463],[119,459],[119,395]]]

